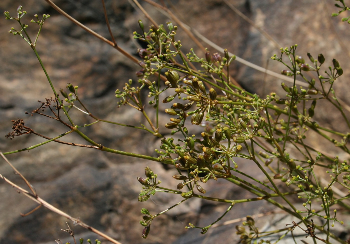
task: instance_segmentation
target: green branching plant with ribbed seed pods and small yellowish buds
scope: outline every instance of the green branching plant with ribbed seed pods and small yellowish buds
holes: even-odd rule
[[[340,2],[343,7],[336,5],[342,8],[339,13],[349,10],[344,1]],[[200,57],[193,49],[184,54],[182,52],[184,43],[176,39],[177,26],[168,22],[166,26],[151,26],[146,30],[140,20],[141,33],[134,32],[134,38],[147,44],[147,48],[138,50],[142,58],[140,61],[142,69],[138,72],[140,78],[136,82],[128,80],[123,90],[116,91],[119,106],[130,105],[135,112],[141,112],[147,120],[146,125],[132,126],[95,117],[79,100],[78,87],[70,83],[66,86],[69,93],[64,89],[60,90],[65,98],[64,102],[59,99],[43,62],[35,51],[41,26],[49,15],[43,15],[42,20],[32,21],[40,25],[40,29],[35,41],[31,42],[25,30],[28,26],[21,22],[26,12],[22,12],[21,9],[22,7],[19,7],[17,10],[17,18],[12,18],[5,12],[6,19],[16,20],[21,26],[20,31],[12,28],[10,33],[20,35],[33,48],[55,93],[54,98],[41,102],[40,109],[30,114],[39,114],[59,121],[68,127],[69,131],[56,138],[47,138],[25,127],[23,120],[16,120],[13,132],[7,137],[13,138],[30,132],[46,138],[47,141],[40,144],[43,145],[76,132],[88,142],[88,145],[79,146],[172,165],[178,172],[173,176],[174,179],[181,182],[171,189],[162,187],[161,181],[157,180],[158,175],[149,167],[145,168],[146,177],[138,177],[138,181],[142,184],[138,197],[140,202],[147,201],[151,195],[158,192],[178,194],[183,198],[172,207],[154,215],[145,208],[141,209],[144,215],[140,221],[144,226],[143,238],[149,235],[150,226],[156,217],[184,201],[198,197],[229,205],[222,216],[208,226],[188,224],[187,228],[199,228],[202,234],[231,209],[234,211],[235,204],[264,200],[291,215],[295,221],[286,224],[292,227],[261,232],[255,226],[254,219],[247,216],[242,226],[236,226],[241,243],[251,243],[254,240],[259,241],[258,243],[269,243],[268,239],[261,238],[278,232],[283,236],[293,234],[296,227],[305,229],[307,235],[314,240],[330,243],[330,239],[333,239],[332,241],[345,243],[332,232],[332,227],[343,224],[341,216],[337,215],[337,212],[340,212],[337,209],[341,208],[342,212],[350,210],[349,205],[344,203],[350,195],[339,196],[334,194],[332,188],[344,192],[350,190],[348,162],[340,160],[337,155],[330,155],[331,149],[327,152],[318,152],[308,145],[307,140],[309,131],[313,131],[319,140],[330,142],[349,156],[347,142],[350,133],[325,128],[313,119],[322,110],[317,106],[318,100],[326,100],[334,108],[334,112],[341,114],[342,123],[350,130],[349,120],[333,89],[333,84],[343,74],[343,69],[336,59],[328,61],[322,54],[314,58],[308,53],[310,63],[307,63],[302,56],[297,55],[297,45],[281,48],[280,54],[273,55],[271,59],[285,65],[286,68],[281,74],[292,77],[294,84],[292,86],[281,84],[285,94],[276,95],[271,92],[266,97],[260,97],[233,84],[229,74],[230,64],[235,61],[235,56],[230,56],[227,50],[223,56],[219,53],[211,54],[207,50],[204,57]],[[324,68],[325,65],[329,66]],[[313,73],[317,78],[309,78],[308,73]],[[307,86],[297,87],[295,85],[297,78],[303,79]],[[144,90],[148,93],[146,98],[148,105],[142,102],[145,100],[142,97],[142,94],[145,94],[142,92]],[[161,103],[168,105],[165,113],[172,116],[165,125],[159,123],[160,114],[164,114],[159,110]],[[47,108],[49,114],[43,112]],[[69,116],[71,108],[78,109],[95,121],[89,125],[75,124]],[[68,121],[61,118],[60,111],[63,111]],[[149,116],[150,113],[156,114],[155,119]],[[159,154],[158,158],[103,147],[79,130],[79,127],[93,126],[97,122],[133,127],[158,137],[160,146],[155,148],[155,152]],[[175,136],[173,138],[162,135],[159,132],[161,126],[171,130],[171,135],[176,135],[179,139],[175,141]],[[198,132],[198,127],[201,132]],[[65,143],[73,146],[72,143]],[[260,181],[250,176],[250,172],[240,171],[237,159],[244,159],[257,165],[265,180]],[[320,172],[330,175],[331,180],[327,183],[322,182],[323,174]],[[245,177],[254,183],[248,182]],[[229,181],[256,197],[232,200],[207,196],[205,185],[218,180]],[[281,184],[288,187],[281,188]],[[302,209],[298,209],[295,205],[298,200],[303,201]],[[318,207],[320,203],[321,208]],[[313,219],[322,219],[323,224],[316,224]],[[317,236],[322,233],[325,239]],[[90,240],[87,242],[91,243]],[[82,239],[80,243],[83,243]],[[96,240],[96,243],[99,242]]]

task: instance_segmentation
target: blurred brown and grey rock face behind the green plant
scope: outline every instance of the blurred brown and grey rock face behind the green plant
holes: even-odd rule
[[[162,2],[159,1],[160,4]],[[307,62],[309,62],[307,52],[314,57],[323,53],[328,62],[325,67],[331,65],[332,58],[336,57],[344,69],[344,75],[336,81],[334,88],[344,103],[349,103],[347,82],[350,53],[346,48],[349,46],[350,26],[341,22],[341,17],[344,16],[331,18],[331,13],[338,11],[334,7],[334,1],[165,2],[167,6],[173,8],[175,15],[212,42],[247,61],[278,73],[284,67],[270,60],[270,57],[275,53],[279,54],[279,49],[232,11],[227,3],[235,6],[257,26],[263,28],[281,47],[299,44],[298,53]],[[57,0],[55,4],[109,39],[100,1]],[[141,4],[156,22],[165,24],[170,20],[168,16],[162,15],[146,2],[141,1]],[[80,97],[97,117],[133,125],[139,125],[140,121],[144,122],[137,111],[129,107],[117,108],[118,100],[114,96],[114,91],[122,88],[128,79],[137,79],[135,71],[140,69],[138,65],[59,15],[43,0],[2,0],[1,13],[9,11],[14,16],[19,5],[23,5],[23,10],[28,12],[25,22],[28,23],[28,30],[32,35],[36,34],[36,26],[29,23],[33,15],[51,15],[39,37],[37,51],[56,90],[65,88],[66,83],[71,82],[79,86]],[[106,0],[106,5],[118,44],[137,55],[139,46],[132,38],[132,32],[139,31],[137,23],[139,19],[144,21],[145,26],[149,25],[148,20],[134,8],[132,1]],[[174,22],[174,25],[176,24]],[[2,152],[25,148],[43,141],[35,135],[5,139],[3,135],[11,131],[12,119],[22,118],[26,126],[49,137],[66,131],[66,128],[58,123],[52,123],[47,118],[24,114],[25,111],[30,112],[38,107],[38,99],[51,97],[52,91],[33,51],[19,36],[7,33],[10,27],[18,28],[15,21],[0,18],[0,150]],[[193,45],[181,29],[176,39],[181,40],[184,50],[188,51]],[[208,47],[205,43],[203,45]],[[212,53],[215,52],[214,49],[208,48]],[[195,51],[198,55],[201,54],[197,47]],[[281,80],[278,78],[266,76],[263,72],[255,71],[239,62],[233,62],[232,67],[232,76],[249,91],[260,95],[282,91]],[[336,126],[342,129],[343,125],[339,123],[338,114],[325,116],[330,111],[331,108],[324,106],[322,113],[316,114],[315,118],[328,123],[329,127]],[[92,122],[78,111],[72,111],[72,114],[81,125]],[[164,116],[163,120],[167,121],[168,116]],[[154,149],[159,147],[156,138],[125,127],[98,124],[84,128],[83,132],[102,145],[122,151],[156,156]],[[83,143],[76,135],[68,135],[64,140]],[[150,166],[161,175],[160,180],[164,186],[174,187],[178,183],[172,178],[175,174],[173,169],[165,169],[155,162],[53,142],[29,152],[11,154],[7,157],[33,184],[39,196],[71,216],[80,217],[87,224],[105,231],[121,243],[217,243],[218,239],[221,243],[229,241],[234,243],[233,241],[237,240],[234,228],[237,223],[213,228],[206,235],[201,235],[199,230],[184,228],[189,222],[207,225],[228,208],[228,205],[208,203],[199,199],[191,199],[182,207],[155,219],[151,234],[147,239],[142,239],[143,227],[139,224],[142,217],[140,209],[146,207],[155,213],[181,200],[181,197],[158,193],[152,197],[153,201],[138,202],[137,196],[141,185],[137,182],[137,176],[144,175],[146,166]],[[244,162],[240,165],[241,170],[249,168],[252,175],[261,178],[262,176],[258,175],[259,171],[253,167]],[[3,160],[0,160],[0,173],[23,185],[20,178],[13,174],[13,170]],[[224,181],[206,186],[206,189],[208,195],[217,197],[233,199],[249,197]],[[0,182],[0,194],[0,244],[44,244],[55,243],[55,239],[61,239],[63,243],[72,242],[68,234],[61,230],[66,229],[65,218],[44,208],[27,217],[20,217],[20,212],[26,213],[35,208],[36,204],[22,194],[16,194],[16,191],[4,182]],[[259,213],[267,215],[272,208],[264,204],[265,202],[260,201],[237,204],[225,216],[224,221]],[[275,213],[271,219],[273,217],[279,216]],[[262,225],[266,224],[264,221],[266,222],[266,218],[262,221]],[[282,221],[281,225],[288,221]],[[346,228],[349,229],[349,222],[346,224],[344,230],[339,230],[339,233],[346,231]],[[74,228],[77,238],[98,238],[79,226]],[[302,238],[303,236],[304,234]]]

